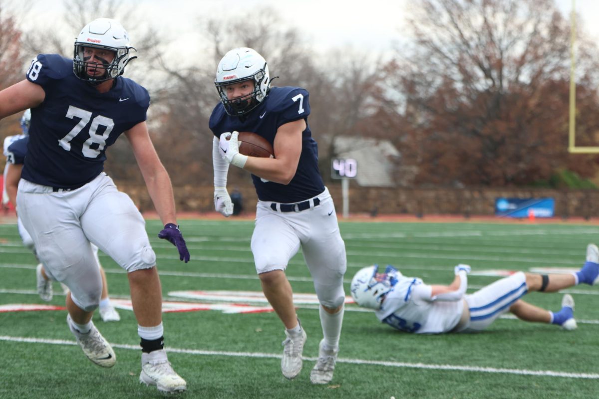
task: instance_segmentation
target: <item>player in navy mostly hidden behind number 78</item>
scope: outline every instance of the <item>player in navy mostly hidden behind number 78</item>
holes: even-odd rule
[[[23,169],[23,162],[25,162],[25,155],[27,154],[27,143],[29,142],[29,122],[31,121],[31,111],[27,109],[21,118],[21,127],[23,129],[22,135],[8,136],[4,139],[4,156],[7,158],[7,164],[4,173],[4,191],[6,193],[6,199],[10,200],[14,206],[16,206],[17,187],[21,178],[21,170]],[[23,227],[23,222],[20,217],[17,216],[17,228],[19,229],[19,235],[23,240],[23,245],[31,249],[37,258],[37,251],[35,251],[34,241]],[[110,297],[108,297],[108,284],[106,282],[106,274],[100,260],[98,258],[98,247],[92,244],[92,250],[94,258],[100,268],[100,274],[102,277],[102,295],[100,297],[99,312],[103,321],[119,321],[120,315],[114,306],[110,303]],[[35,270],[37,277],[37,291],[40,294],[40,298],[44,301],[52,300],[53,288],[52,279],[46,275],[44,264],[39,263]]]

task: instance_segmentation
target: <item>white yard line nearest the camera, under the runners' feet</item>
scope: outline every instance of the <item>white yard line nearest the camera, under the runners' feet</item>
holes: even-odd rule
[[[43,338],[28,338],[28,337],[11,337],[0,336],[1,341],[7,342],[25,342],[35,344],[50,344],[50,345],[77,345],[75,341],[58,340],[58,339],[43,339]],[[124,345],[111,344],[113,348],[129,349],[139,351],[139,345]],[[183,349],[168,347],[167,352],[187,354],[187,355],[204,355],[204,356],[228,356],[228,357],[244,357],[244,358],[272,358],[280,359],[280,354],[267,354],[261,352],[223,352],[223,351],[201,351],[198,349]],[[304,360],[316,361],[313,357],[304,357]],[[346,359],[339,358],[337,363],[368,365],[368,366],[383,366],[383,367],[401,367],[401,368],[425,368],[428,370],[448,370],[448,371],[471,371],[474,373],[495,373],[495,374],[518,374],[524,376],[539,376],[539,377],[563,377],[577,379],[599,379],[599,374],[593,373],[566,373],[564,371],[552,370],[527,370],[519,368],[495,368],[495,367],[479,367],[479,366],[459,366],[453,364],[425,364],[425,363],[404,363],[395,361],[377,361],[363,359]]]

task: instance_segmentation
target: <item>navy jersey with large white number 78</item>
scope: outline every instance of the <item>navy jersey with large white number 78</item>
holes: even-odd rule
[[[121,133],[146,120],[150,96],[130,79],[118,77],[99,93],[73,73],[72,59],[40,54],[26,74],[46,98],[31,109],[28,157],[22,178],[75,188],[104,169],[105,151]]]

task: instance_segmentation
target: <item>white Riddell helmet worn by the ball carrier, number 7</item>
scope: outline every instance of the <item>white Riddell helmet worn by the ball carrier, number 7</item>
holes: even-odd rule
[[[229,100],[225,87],[230,84],[253,80],[254,91],[243,99]],[[264,57],[252,48],[234,48],[225,54],[216,69],[214,86],[219,92],[220,102],[231,116],[241,116],[256,108],[267,96],[270,89],[270,75]]]

